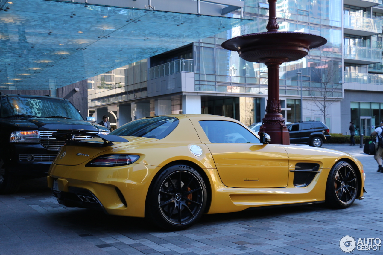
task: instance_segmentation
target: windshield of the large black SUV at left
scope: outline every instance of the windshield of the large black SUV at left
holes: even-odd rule
[[[79,111],[67,100],[57,98],[26,98],[4,97],[0,105],[1,118],[20,117],[51,117],[83,120]]]

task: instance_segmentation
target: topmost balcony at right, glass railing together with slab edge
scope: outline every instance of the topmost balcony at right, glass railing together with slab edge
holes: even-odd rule
[[[343,28],[345,34],[370,36],[382,33],[382,20],[343,15]]]

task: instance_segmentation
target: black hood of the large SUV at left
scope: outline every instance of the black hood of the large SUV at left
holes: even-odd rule
[[[20,130],[38,129],[44,130],[80,130],[80,131],[108,131],[106,127],[92,124],[78,119],[57,119],[57,118],[23,118],[8,120],[20,127]],[[109,132],[109,131],[108,131]]]

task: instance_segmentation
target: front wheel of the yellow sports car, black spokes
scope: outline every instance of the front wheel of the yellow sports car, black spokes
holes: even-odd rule
[[[337,162],[326,183],[325,201],[331,208],[344,209],[354,203],[358,193],[357,173],[349,163]]]

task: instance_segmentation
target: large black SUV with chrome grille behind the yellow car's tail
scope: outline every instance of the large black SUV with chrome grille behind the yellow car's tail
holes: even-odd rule
[[[52,136],[53,132],[109,132],[104,126],[85,121],[66,99],[29,95],[0,95],[0,130],[0,194],[16,192],[21,179],[47,175],[64,145]],[[73,137],[88,138],[92,137]]]

